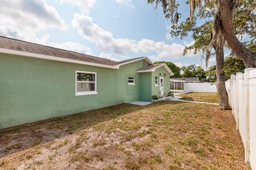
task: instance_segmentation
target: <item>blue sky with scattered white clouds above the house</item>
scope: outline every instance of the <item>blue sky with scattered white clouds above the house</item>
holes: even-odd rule
[[[147,56],[179,66],[202,65],[202,54],[182,56],[190,37],[171,38],[162,7],[147,0],[0,0],[0,35],[79,53],[126,60]],[[180,6],[183,17],[189,7]],[[214,58],[210,65],[214,64]]]

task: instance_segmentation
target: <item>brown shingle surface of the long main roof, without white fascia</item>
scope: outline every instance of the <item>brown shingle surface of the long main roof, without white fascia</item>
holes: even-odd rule
[[[83,61],[83,62],[90,62],[90,63],[97,63],[97,64],[105,64],[105,65],[118,65],[125,62],[137,60],[138,58],[132,58],[130,60],[125,60],[121,62],[108,60],[106,58],[95,57],[87,54],[71,52],[65,49],[59,49],[44,45],[39,45],[35,43],[29,43],[27,41],[12,39],[0,36],[0,48],[4,49],[11,49],[11,50],[18,50],[21,52],[27,53],[34,53],[34,54],[41,54],[47,56],[54,56],[60,58],[66,58],[71,60]],[[142,57],[139,57],[142,58]]]

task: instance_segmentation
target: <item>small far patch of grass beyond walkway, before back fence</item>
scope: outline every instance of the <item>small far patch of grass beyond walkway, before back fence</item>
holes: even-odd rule
[[[217,92],[189,92],[178,96],[182,96],[182,98],[180,98],[181,100],[219,103],[219,95]]]

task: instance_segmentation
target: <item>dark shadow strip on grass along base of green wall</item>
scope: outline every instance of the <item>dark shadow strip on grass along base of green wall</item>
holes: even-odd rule
[[[172,104],[179,103],[181,102],[172,101]],[[59,138],[64,139],[67,135],[90,129],[94,125],[114,120],[122,115],[168,104],[170,101],[159,101],[146,106],[119,104],[5,128],[0,130],[0,158]]]

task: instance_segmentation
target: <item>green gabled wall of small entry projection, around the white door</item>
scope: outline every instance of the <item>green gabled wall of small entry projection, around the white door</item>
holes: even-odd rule
[[[161,73],[161,76],[159,75],[159,73]],[[165,96],[167,96],[170,91],[170,73],[167,72],[167,70],[163,66],[156,69],[155,72],[151,72],[151,79],[152,79],[151,81],[152,95],[151,96],[153,95],[159,96],[159,92],[160,92],[160,87],[155,86],[155,81],[154,81],[155,75],[158,75],[158,85],[160,83],[160,77],[164,78],[164,94]]]

